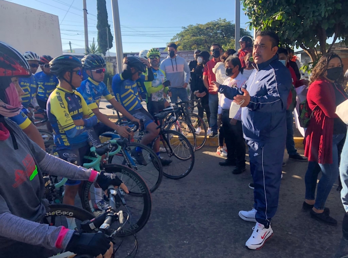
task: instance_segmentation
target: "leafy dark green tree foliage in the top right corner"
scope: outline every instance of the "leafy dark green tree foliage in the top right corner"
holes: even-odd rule
[[[337,40],[348,43],[346,0],[242,0],[250,27],[275,31],[283,45],[301,47],[317,61]],[[333,43],[326,40],[333,37]]]

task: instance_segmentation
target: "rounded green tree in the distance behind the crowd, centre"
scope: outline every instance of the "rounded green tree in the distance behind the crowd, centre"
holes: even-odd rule
[[[241,29],[241,36],[249,35],[250,32]],[[213,43],[220,45],[234,44],[235,24],[226,19],[218,19],[205,24],[196,24],[183,27],[183,30],[172,39],[178,45],[178,50],[210,51]]]

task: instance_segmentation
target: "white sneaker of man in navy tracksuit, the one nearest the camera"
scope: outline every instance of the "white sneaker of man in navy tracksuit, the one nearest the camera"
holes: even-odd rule
[[[245,243],[245,246],[247,246],[249,249],[258,250],[269,238],[272,237],[273,230],[271,225],[269,225],[269,228],[265,228],[265,226],[260,223],[256,223],[253,230],[254,231],[251,234],[251,237]]]

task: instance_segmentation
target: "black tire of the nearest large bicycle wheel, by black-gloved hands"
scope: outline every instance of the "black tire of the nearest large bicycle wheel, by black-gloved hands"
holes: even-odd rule
[[[106,173],[110,173],[110,174],[117,174],[118,177],[121,180],[124,180],[124,183],[126,184],[126,186],[128,186],[129,189],[129,195],[126,194],[125,196],[125,201],[126,201],[126,206],[122,206],[122,203],[119,202],[117,200],[117,210],[123,210],[124,213],[128,214],[129,209],[133,209],[133,210],[139,210],[136,208],[133,208],[132,205],[140,205],[140,201],[131,201],[130,198],[128,197],[132,197],[135,198],[137,197],[138,199],[134,199],[134,200],[143,200],[144,201],[144,210],[142,211],[141,215],[139,216],[139,219],[135,218],[133,219],[135,216],[134,214],[130,214],[131,217],[131,227],[130,228],[125,228],[122,229],[116,236],[119,237],[124,237],[124,236],[129,236],[129,235],[133,235],[134,233],[139,232],[147,223],[147,221],[150,218],[151,215],[151,208],[152,208],[152,200],[151,200],[151,193],[149,188],[147,187],[145,181],[143,180],[143,178],[134,170],[130,169],[129,167],[126,166],[122,166],[122,165],[118,165],[118,164],[106,164],[103,166],[103,170],[105,170]],[[121,175],[120,175],[121,174]],[[125,177],[124,177],[125,176]],[[131,185],[129,180],[126,180],[129,177],[130,179],[133,179],[134,182],[136,182],[136,185],[139,187],[139,190],[141,192],[133,192],[135,191],[133,184]],[[125,179],[126,178],[126,179]],[[131,185],[131,186],[130,186]],[[90,188],[91,186],[94,186],[93,183],[88,182],[88,181],[84,181],[83,182],[83,186],[82,186],[82,207],[88,211],[93,213],[93,215],[96,215],[99,211],[96,210],[92,210],[92,208],[90,207],[90,201],[92,202],[93,200],[89,200],[89,196],[91,197],[93,193],[90,193]],[[132,191],[133,190],[133,191]],[[118,199],[120,199],[118,197]],[[128,202],[128,204],[127,204]],[[123,207],[123,209],[119,209],[120,207]],[[141,205],[140,205],[141,206]],[[125,209],[125,208],[128,209]],[[103,211],[100,211],[100,214]]]

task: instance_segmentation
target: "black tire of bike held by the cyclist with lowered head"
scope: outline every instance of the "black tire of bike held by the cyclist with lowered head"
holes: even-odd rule
[[[189,149],[190,157],[183,158],[183,157],[180,157],[179,155],[177,155],[174,152],[170,153],[171,146],[169,148],[167,146],[165,140],[162,139],[163,137],[166,137],[169,134],[176,135],[178,137],[178,139],[181,139],[180,141],[184,141],[185,142],[187,148]],[[189,142],[189,140],[187,140],[187,138],[185,136],[183,136],[182,134],[178,133],[177,131],[163,130],[163,131],[161,131],[160,136],[162,137],[160,141],[162,142],[164,148],[166,149],[168,157],[171,158],[172,156],[174,156],[175,158],[177,158],[179,160],[177,162],[173,161],[172,163],[169,164],[169,166],[164,166],[163,167],[163,175],[165,177],[167,177],[167,178],[170,178],[170,179],[181,179],[181,178],[184,178],[185,176],[187,176],[192,171],[192,169],[193,169],[193,167],[195,165],[195,153],[193,151],[191,143]],[[154,145],[154,142],[156,141],[156,139],[152,142],[152,146]],[[166,137],[166,139],[167,139],[167,141],[170,144],[170,139],[168,139],[167,137]],[[171,148],[171,149],[173,150],[173,148]],[[169,169],[170,169],[170,166],[172,166],[172,167],[177,166],[178,167],[178,166],[180,166],[180,164],[183,164],[183,162],[188,161],[190,159],[191,159],[190,165],[189,165],[189,167],[187,169],[185,168],[186,169],[185,172],[181,172],[181,174],[177,175],[177,176],[168,173]],[[182,163],[181,163],[181,161],[182,161]],[[187,166],[185,165],[185,167],[187,167]]]

